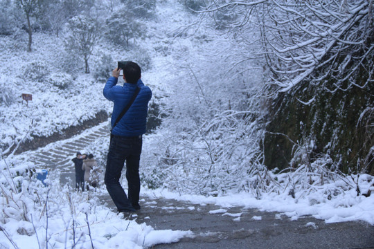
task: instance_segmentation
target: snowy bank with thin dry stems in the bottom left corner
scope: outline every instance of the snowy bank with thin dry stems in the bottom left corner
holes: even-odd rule
[[[96,192],[75,192],[70,183],[60,185],[58,174],[47,178],[48,187],[33,177],[27,180],[22,172],[32,168],[30,164],[17,163],[15,171],[21,176],[12,183],[6,177],[8,163],[15,161],[0,163],[4,191],[0,201],[0,248],[46,248],[48,243],[48,248],[134,249],[193,235],[190,231],[155,230],[146,223],[123,219],[122,214],[100,203],[99,196],[107,195],[103,185]]]

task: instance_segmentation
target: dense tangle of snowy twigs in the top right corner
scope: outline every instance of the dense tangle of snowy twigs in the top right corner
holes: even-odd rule
[[[299,5],[290,5],[291,2],[272,1],[273,8],[267,14],[270,23],[263,33],[265,46],[273,52],[269,55],[269,66],[277,73],[280,91],[289,91],[303,80],[312,80],[316,69],[337,55],[364,50],[360,60],[370,56],[371,49],[365,47],[369,29],[362,30],[371,25],[368,1],[347,4],[345,11],[336,1],[319,1],[314,5],[310,1]],[[358,67],[351,69],[348,75]]]

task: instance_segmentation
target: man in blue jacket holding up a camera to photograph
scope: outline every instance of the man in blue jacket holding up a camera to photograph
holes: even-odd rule
[[[103,94],[107,100],[114,102],[112,113],[112,133],[105,170],[105,185],[112,197],[118,212],[125,215],[140,210],[139,192],[139,160],[141,156],[142,135],[145,133],[148,102],[152,91],[141,81],[141,68],[134,62],[127,62],[123,66],[123,86],[116,86],[121,68],[112,72],[105,84]],[[118,121],[116,119],[124,107],[132,99],[134,92],[140,88],[139,94],[130,109]],[[126,179],[128,183],[128,198],[119,183],[121,172],[126,161]]]

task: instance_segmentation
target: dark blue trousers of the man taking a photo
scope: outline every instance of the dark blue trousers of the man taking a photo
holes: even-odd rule
[[[112,197],[118,212],[134,212],[139,209],[139,160],[141,156],[142,138],[112,136],[105,170],[105,185]],[[128,199],[119,179],[126,161],[126,179]]]

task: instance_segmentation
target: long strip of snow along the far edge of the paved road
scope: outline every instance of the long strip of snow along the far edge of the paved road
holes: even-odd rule
[[[330,183],[338,185],[339,183]],[[368,183],[370,185],[370,183]],[[369,186],[362,186],[368,187]],[[374,187],[371,187],[374,191]],[[357,196],[355,190],[348,190],[337,198],[323,198],[323,190],[300,199],[293,199],[285,194],[268,194],[256,199],[248,193],[232,193],[225,196],[198,196],[190,194],[177,194],[168,190],[157,190],[150,192],[155,197],[176,199],[178,201],[190,201],[195,204],[220,205],[222,209],[211,213],[224,213],[224,208],[233,206],[243,206],[244,208],[257,208],[260,211],[281,212],[291,220],[299,219],[303,216],[313,216],[322,219],[326,223],[344,221],[365,221],[374,225],[374,195],[369,197]],[[315,196],[320,196],[320,201],[316,201]],[[228,214],[229,215],[229,214]],[[254,218],[253,218],[254,219]]]

